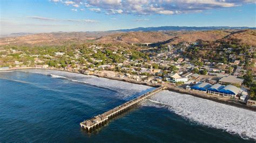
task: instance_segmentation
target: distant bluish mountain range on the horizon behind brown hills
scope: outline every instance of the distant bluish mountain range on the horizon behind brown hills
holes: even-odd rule
[[[204,31],[204,30],[244,30],[256,27],[229,27],[229,26],[207,26],[207,27],[189,27],[189,26],[160,26],[160,27],[138,27],[122,30],[111,30],[109,32],[136,32],[136,31]]]

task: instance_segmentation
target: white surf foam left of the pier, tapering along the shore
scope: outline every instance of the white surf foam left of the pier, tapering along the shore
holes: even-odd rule
[[[138,94],[142,91],[151,89],[151,87],[139,84],[132,84],[122,81],[109,80],[107,78],[101,78],[91,75],[83,75],[77,73],[70,73],[66,71],[57,70],[43,70],[43,69],[23,69],[19,71],[24,71],[28,73],[44,74],[50,75],[53,78],[67,78],[71,81],[82,82],[97,87],[107,88],[119,92],[118,96],[124,99],[129,99],[134,94]]]

